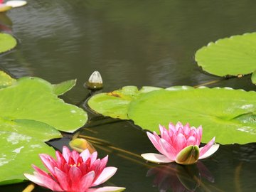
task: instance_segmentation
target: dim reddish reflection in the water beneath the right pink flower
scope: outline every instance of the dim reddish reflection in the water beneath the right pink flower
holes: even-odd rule
[[[184,192],[196,191],[201,186],[201,178],[214,182],[213,175],[201,161],[197,164],[182,166],[179,164],[166,164],[156,166],[147,171],[146,176],[154,176],[153,186],[159,191]]]

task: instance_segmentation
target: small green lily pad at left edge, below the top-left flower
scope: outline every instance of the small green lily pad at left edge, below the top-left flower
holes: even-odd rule
[[[1,6],[0,6],[0,12],[1,12]],[[16,45],[17,45],[17,41],[13,36],[6,33],[0,33],[0,53],[11,50]]]

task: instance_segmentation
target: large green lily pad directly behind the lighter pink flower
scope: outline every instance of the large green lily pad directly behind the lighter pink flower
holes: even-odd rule
[[[228,88],[190,88],[149,92],[129,105],[128,116],[144,129],[189,122],[203,126],[202,142],[256,142],[256,92]]]

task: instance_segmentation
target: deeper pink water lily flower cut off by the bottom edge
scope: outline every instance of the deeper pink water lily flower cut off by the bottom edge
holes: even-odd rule
[[[39,154],[39,156],[50,173],[33,165],[35,169],[33,175],[24,174],[24,176],[52,191],[102,192],[124,191],[125,189],[114,186],[92,188],[107,181],[117,171],[116,167],[106,167],[108,156],[97,159],[97,151],[90,154],[88,149],[85,149],[79,154],[63,146],[63,154],[56,151],[56,159],[48,154]]]

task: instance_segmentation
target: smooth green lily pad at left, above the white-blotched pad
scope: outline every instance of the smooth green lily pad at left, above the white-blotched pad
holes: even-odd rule
[[[60,100],[53,85],[40,78],[20,78],[0,89],[0,117],[44,122],[64,132],[74,132],[87,121],[84,110]]]

